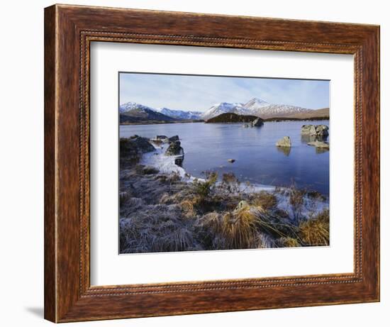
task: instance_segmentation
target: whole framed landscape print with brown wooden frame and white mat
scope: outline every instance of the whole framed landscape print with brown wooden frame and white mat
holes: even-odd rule
[[[45,318],[379,301],[379,26],[45,9]]]

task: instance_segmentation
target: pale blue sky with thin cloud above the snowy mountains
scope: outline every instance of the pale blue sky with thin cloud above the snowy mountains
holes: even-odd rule
[[[308,109],[329,107],[329,82],[310,79],[269,79],[200,75],[120,73],[119,102],[152,108],[206,111],[219,102],[257,97],[270,104]]]

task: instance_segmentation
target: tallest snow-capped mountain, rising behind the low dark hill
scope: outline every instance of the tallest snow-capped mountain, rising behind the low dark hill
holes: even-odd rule
[[[240,115],[254,115],[260,118],[284,117],[295,113],[305,113],[311,109],[291,106],[289,104],[269,104],[262,99],[253,98],[246,104],[227,103],[215,104],[210,109],[201,114],[204,120],[221,115],[221,113],[233,112]]]

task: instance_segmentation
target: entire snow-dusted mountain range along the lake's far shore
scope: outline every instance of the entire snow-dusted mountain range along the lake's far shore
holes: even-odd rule
[[[326,114],[326,110],[328,113]],[[143,104],[128,102],[119,106],[121,123],[179,122],[204,120],[221,115],[222,113],[237,113],[238,115],[267,118],[311,118],[329,116],[329,109],[312,110],[289,104],[269,104],[262,99],[253,98],[247,103],[221,102],[214,104],[203,113],[200,111],[174,110],[168,108],[152,109]]]

